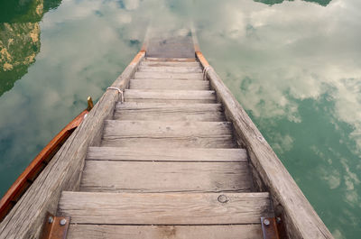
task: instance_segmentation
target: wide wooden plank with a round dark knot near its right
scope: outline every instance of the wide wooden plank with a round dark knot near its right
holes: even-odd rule
[[[259,224],[273,216],[268,193],[97,193],[63,191],[59,212],[73,224]]]

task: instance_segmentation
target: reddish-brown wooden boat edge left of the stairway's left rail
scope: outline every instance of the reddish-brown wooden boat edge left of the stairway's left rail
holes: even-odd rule
[[[69,124],[67,124],[45,148],[32,160],[23,173],[14,181],[13,185],[6,191],[0,200],[0,221],[3,221],[7,213],[14,207],[14,204],[22,197],[27,188],[42,172],[45,166],[51,161],[52,156],[60,149],[61,145],[69,138],[70,134],[83,121],[88,109],[81,112]]]

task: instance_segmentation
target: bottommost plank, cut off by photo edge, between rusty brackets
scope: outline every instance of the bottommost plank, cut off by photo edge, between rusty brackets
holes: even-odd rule
[[[70,225],[68,239],[260,239],[261,225]]]

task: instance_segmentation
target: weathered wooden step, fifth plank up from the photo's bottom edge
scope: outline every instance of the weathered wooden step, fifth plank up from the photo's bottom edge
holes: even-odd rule
[[[102,146],[236,148],[229,122],[106,120]]]

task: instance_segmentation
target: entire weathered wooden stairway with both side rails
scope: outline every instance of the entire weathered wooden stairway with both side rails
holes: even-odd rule
[[[0,238],[333,238],[197,41],[154,55],[107,88]]]

